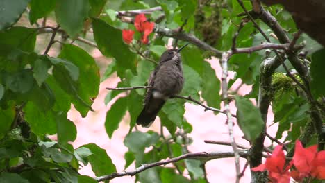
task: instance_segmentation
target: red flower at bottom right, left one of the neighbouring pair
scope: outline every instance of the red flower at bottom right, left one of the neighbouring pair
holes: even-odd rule
[[[272,182],[288,183],[290,182],[289,169],[292,164],[285,166],[285,154],[283,153],[282,146],[276,146],[270,157],[267,157],[265,164],[260,164],[252,171],[269,171],[269,179]]]

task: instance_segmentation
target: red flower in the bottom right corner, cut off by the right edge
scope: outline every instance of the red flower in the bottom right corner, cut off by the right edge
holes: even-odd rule
[[[303,148],[301,141],[297,140],[292,161],[297,168],[292,173],[294,180],[310,175],[319,180],[325,179],[325,150],[317,152],[317,145]]]

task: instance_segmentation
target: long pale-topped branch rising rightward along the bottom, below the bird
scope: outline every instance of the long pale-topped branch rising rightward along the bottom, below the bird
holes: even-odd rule
[[[238,153],[240,154],[240,157],[247,157],[246,150],[240,150]],[[187,153],[187,154],[184,154],[184,155],[181,155],[178,157],[174,157],[171,159],[161,160],[159,162],[153,162],[150,164],[142,164],[142,166],[135,168],[135,170],[133,170],[133,171],[124,171],[122,173],[112,173],[109,175],[103,175],[101,177],[95,177],[95,180],[100,182],[100,181],[104,181],[104,180],[113,180],[116,177],[133,176],[133,175],[136,175],[136,174],[138,174],[142,171],[145,171],[149,168],[166,165],[166,164],[170,164],[173,162],[178,162],[183,159],[200,159],[200,160],[209,161],[211,159],[233,157],[233,155],[234,155],[234,153],[232,150],[231,151],[217,151],[217,152],[211,152],[211,153],[207,153],[207,152]]]

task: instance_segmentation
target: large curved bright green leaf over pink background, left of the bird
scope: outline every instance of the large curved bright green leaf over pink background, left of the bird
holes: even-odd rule
[[[72,100],[72,103],[74,103],[76,110],[81,113],[81,116],[85,117],[90,110],[93,99],[99,92],[99,67],[87,51],[72,44],[65,44],[58,57],[69,60],[79,69],[77,96]]]

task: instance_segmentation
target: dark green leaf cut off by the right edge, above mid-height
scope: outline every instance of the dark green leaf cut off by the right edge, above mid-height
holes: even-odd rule
[[[312,80],[310,82],[310,88],[313,96],[318,98],[325,95],[325,73],[322,70],[325,68],[325,49],[316,51],[312,55],[312,63],[310,66],[310,76]]]

